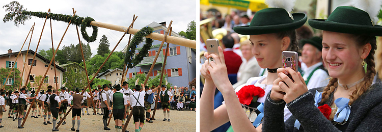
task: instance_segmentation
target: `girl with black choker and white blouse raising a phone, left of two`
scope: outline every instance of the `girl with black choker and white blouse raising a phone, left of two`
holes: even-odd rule
[[[278,78],[276,71],[282,67],[282,51],[298,50],[295,29],[302,27],[307,20],[304,13],[290,13],[294,5],[293,1],[265,1],[265,3],[271,8],[256,12],[250,25],[235,27],[234,31],[238,34],[250,35],[252,54],[261,68],[268,69],[268,74],[252,77],[245,85],[234,90],[228,80],[225,65],[230,62],[225,62],[222,48],[219,47],[219,56],[205,53],[206,58],[213,58],[215,61],[210,63],[206,61],[201,68],[201,74],[206,78],[200,98],[200,117],[203,117],[200,120],[201,131],[211,131],[228,121],[232,125],[232,128],[228,130],[256,131],[255,127],[261,130],[259,124],[263,114],[257,116],[257,113],[262,112],[260,111],[261,103],[266,100],[265,97],[271,90],[273,82]],[[251,101],[250,104],[243,104],[236,95],[236,92],[240,93],[243,86],[260,87],[265,95],[259,95],[258,99]],[[215,87],[222,93],[225,103],[213,110]],[[248,121],[249,117],[250,121]]]

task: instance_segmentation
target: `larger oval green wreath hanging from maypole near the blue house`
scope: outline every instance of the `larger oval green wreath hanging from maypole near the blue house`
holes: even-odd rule
[[[147,57],[148,50],[150,50],[153,40],[146,38],[146,43],[142,46],[142,49],[139,51],[139,54],[134,57],[135,49],[138,45],[143,42],[145,36],[151,34],[154,30],[151,27],[143,27],[140,31],[135,33],[134,37],[131,39],[129,47],[127,47],[125,54],[125,63],[127,68],[133,68],[138,63],[140,63],[144,57]]]

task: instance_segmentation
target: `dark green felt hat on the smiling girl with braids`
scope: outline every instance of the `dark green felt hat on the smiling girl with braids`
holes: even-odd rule
[[[315,29],[368,36],[382,36],[382,26],[373,25],[369,14],[359,8],[337,7],[328,19],[309,19]]]

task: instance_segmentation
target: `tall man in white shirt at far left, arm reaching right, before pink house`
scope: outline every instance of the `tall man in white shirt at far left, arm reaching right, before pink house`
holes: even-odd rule
[[[26,86],[22,86],[22,88],[20,89],[20,95],[18,97],[18,110],[20,112],[20,114],[18,115],[18,126],[17,128],[24,128],[21,126],[21,120],[25,114],[23,113],[23,110],[24,110],[24,107],[25,107],[25,104],[26,102],[30,102],[29,100],[27,99],[35,99],[36,97],[26,97],[25,96],[25,91],[26,91]],[[31,102],[30,102],[31,103]]]

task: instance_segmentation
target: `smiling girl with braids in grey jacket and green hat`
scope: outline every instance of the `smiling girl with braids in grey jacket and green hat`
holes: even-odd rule
[[[301,74],[278,69],[265,101],[264,131],[382,130],[382,86],[373,83],[375,36],[382,36],[375,19],[380,5],[380,0],[353,1],[354,7],[337,7],[326,20],[309,20],[313,28],[323,30],[322,59],[329,84],[308,91]],[[293,116],[284,123],[285,104]]]

